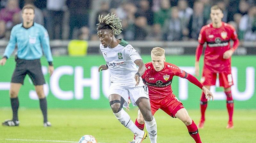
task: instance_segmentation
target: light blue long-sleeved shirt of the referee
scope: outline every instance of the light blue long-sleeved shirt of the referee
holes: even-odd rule
[[[7,58],[10,57],[16,43],[19,59],[40,59],[44,51],[47,61],[53,61],[48,32],[43,25],[34,22],[28,29],[24,28],[22,23],[13,26],[10,41],[4,51],[4,56]]]

